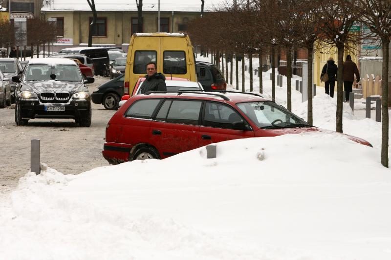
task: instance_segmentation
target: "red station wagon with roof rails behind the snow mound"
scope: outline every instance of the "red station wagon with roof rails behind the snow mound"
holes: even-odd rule
[[[323,132],[281,105],[240,92],[150,92],[131,97],[109,120],[103,156],[109,163],[164,159],[210,143]],[[350,140],[369,142],[347,136]]]

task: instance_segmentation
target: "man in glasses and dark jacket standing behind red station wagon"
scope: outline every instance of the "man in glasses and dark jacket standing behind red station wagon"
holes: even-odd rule
[[[146,80],[141,85],[141,94],[148,91],[167,91],[166,82],[164,82],[166,77],[161,73],[157,73],[155,62],[147,63],[147,75],[144,77]]]

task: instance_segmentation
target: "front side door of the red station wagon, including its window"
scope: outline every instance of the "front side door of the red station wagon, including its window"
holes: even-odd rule
[[[233,129],[234,122],[244,122],[248,130]],[[250,125],[231,106],[223,103],[206,101],[199,128],[199,147],[226,140],[254,137]]]

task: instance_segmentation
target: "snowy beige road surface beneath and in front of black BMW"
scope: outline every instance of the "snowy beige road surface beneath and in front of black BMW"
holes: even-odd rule
[[[90,92],[109,78],[95,77]],[[74,120],[30,120],[15,124],[15,104],[0,109],[0,196],[11,191],[30,169],[30,140],[41,140],[41,162],[64,174],[78,174],[109,165],[102,157],[106,124],[115,111],[92,103],[91,127]]]

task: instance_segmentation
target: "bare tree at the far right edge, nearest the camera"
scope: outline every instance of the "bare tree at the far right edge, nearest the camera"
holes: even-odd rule
[[[363,25],[378,36],[382,43],[383,64],[382,64],[382,149],[381,162],[388,167],[388,146],[389,146],[389,99],[388,91],[389,78],[389,46],[391,36],[391,4],[389,0],[358,0],[353,7],[357,18]]]

